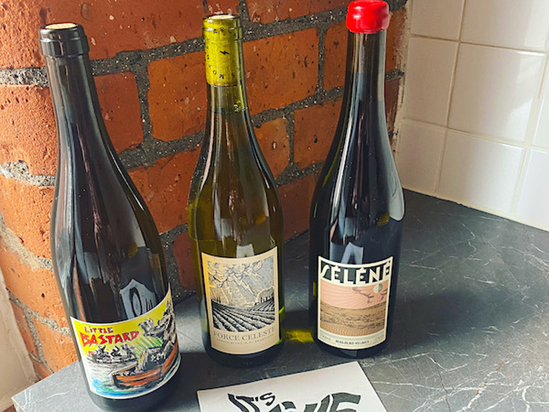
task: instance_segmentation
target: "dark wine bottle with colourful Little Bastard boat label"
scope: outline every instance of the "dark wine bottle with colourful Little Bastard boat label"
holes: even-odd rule
[[[58,131],[51,258],[86,387],[150,409],[180,363],[159,233],[108,137],[81,25],[40,28]]]

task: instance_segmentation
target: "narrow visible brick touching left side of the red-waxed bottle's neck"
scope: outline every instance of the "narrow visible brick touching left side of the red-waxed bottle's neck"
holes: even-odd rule
[[[340,87],[345,82],[347,61],[347,26],[340,21],[328,27],[324,39],[324,88]]]

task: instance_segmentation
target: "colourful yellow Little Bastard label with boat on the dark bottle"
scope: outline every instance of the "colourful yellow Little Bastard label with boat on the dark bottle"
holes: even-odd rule
[[[170,289],[145,314],[116,323],[71,317],[89,388],[110,399],[145,395],[177,371],[180,356]]]

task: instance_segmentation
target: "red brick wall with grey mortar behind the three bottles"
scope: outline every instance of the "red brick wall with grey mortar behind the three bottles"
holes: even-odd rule
[[[404,71],[406,0],[389,1],[386,106],[392,132]],[[152,211],[178,299],[194,279],[187,195],[205,126],[202,16],[243,18],[246,86],[277,179],[285,237],[307,230],[316,174],[344,80],[347,0],[5,0],[0,7],[0,268],[38,378],[75,361],[51,271],[57,138],[37,30],[76,21],[89,37],[113,144]]]

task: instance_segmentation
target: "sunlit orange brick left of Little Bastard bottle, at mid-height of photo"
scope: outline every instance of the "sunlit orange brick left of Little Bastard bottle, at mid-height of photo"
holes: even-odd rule
[[[53,202],[53,186],[34,186],[0,176],[0,214],[5,225],[27,249],[45,258],[51,257],[49,222]]]

